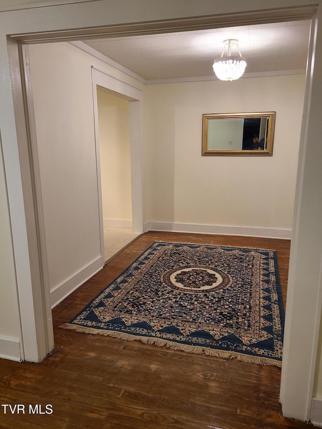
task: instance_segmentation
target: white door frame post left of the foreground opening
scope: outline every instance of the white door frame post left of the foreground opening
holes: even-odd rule
[[[28,46],[20,49],[16,41],[8,40],[7,49],[18,144],[13,144],[14,140],[9,146],[4,144],[3,154],[21,318],[21,356],[23,360],[41,362],[53,350],[54,338],[49,290],[46,289],[46,244],[41,219],[42,201]],[[25,82],[25,87],[22,82]],[[10,111],[10,107],[7,106],[6,110]],[[13,158],[17,156],[17,149],[20,159],[18,165]],[[19,167],[20,172],[15,178],[16,168]],[[21,183],[17,181],[18,178]]]

